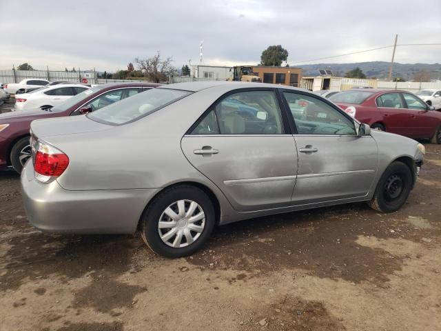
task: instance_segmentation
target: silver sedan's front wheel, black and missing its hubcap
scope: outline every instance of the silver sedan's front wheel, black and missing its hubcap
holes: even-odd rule
[[[406,202],[412,187],[411,170],[404,163],[395,161],[384,170],[375,194],[368,204],[379,212],[396,212]]]

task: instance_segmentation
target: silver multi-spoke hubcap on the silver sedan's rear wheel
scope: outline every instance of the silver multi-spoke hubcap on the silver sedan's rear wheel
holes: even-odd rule
[[[196,241],[205,228],[205,214],[198,203],[179,200],[169,205],[159,218],[158,233],[166,245],[183,248]]]

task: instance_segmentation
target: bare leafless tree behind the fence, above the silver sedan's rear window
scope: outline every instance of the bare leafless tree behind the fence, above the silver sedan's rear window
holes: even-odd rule
[[[158,51],[153,57],[146,57],[141,59],[136,57],[134,62],[138,69],[150,80],[155,83],[167,80],[172,74],[175,74],[176,68],[172,66],[172,58],[161,59],[161,54]]]

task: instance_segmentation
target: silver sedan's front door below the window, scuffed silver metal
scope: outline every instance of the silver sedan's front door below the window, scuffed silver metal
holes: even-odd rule
[[[372,137],[294,137],[298,148],[294,205],[362,197],[369,192],[378,162]],[[305,146],[316,148],[316,152],[300,152]]]

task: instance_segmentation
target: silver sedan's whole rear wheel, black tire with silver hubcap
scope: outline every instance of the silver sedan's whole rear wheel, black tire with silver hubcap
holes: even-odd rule
[[[158,194],[145,210],[141,237],[157,254],[184,257],[203,246],[214,223],[214,207],[207,194],[181,185]]]

